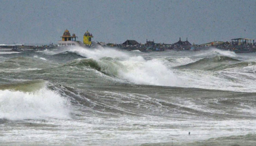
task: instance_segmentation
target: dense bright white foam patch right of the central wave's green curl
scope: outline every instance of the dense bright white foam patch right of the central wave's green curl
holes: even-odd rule
[[[120,61],[125,68],[118,69],[118,76],[136,84],[176,86],[176,77],[162,61],[146,61],[142,57],[130,57]]]

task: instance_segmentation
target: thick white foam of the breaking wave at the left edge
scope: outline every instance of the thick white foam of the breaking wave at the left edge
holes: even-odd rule
[[[0,90],[0,119],[62,119],[69,117],[69,109],[64,97],[46,87],[35,92]]]

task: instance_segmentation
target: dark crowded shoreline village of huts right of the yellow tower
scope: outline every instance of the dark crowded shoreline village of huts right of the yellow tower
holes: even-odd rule
[[[125,50],[140,50],[140,51],[165,51],[165,50],[193,50],[200,51],[206,50],[211,47],[215,47],[223,50],[230,50],[236,53],[246,53],[246,52],[256,52],[256,42],[254,39],[248,38],[236,38],[231,39],[230,42],[222,42],[222,41],[214,41],[209,43],[204,43],[200,45],[191,44],[188,41],[182,41],[181,38],[179,41],[173,44],[165,44],[165,43],[155,43],[153,41],[146,40],[145,44],[138,43],[135,40],[127,40],[122,44],[102,44],[106,46],[116,46]]]

